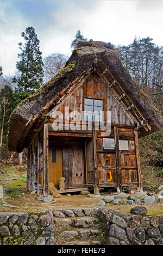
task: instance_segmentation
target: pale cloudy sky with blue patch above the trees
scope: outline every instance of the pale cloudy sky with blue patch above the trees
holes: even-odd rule
[[[42,56],[70,56],[79,29],[84,37],[114,45],[151,37],[163,45],[163,1],[158,0],[0,0],[0,66],[14,75],[21,32],[35,28]]]

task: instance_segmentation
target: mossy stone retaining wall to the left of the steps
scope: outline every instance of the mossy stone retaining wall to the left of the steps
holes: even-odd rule
[[[0,213],[0,245],[56,245],[52,212]]]

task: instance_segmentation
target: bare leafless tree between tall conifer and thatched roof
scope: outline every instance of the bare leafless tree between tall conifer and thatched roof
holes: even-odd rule
[[[63,68],[68,57],[62,53],[52,53],[43,59],[44,81],[51,80],[52,77]]]

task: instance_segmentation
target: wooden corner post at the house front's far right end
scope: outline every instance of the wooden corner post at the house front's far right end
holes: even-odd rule
[[[134,133],[135,133],[135,146],[136,146],[137,174],[138,174],[138,182],[139,182],[139,186],[137,187],[137,191],[142,192],[142,191],[143,191],[143,188],[142,188],[142,181],[141,181],[139,140],[138,140],[138,133],[137,133],[137,130],[135,130]]]

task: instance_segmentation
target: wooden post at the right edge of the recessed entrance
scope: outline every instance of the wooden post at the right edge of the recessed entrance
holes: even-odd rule
[[[99,181],[98,181],[98,163],[97,163],[97,133],[95,131],[95,123],[93,123],[92,127],[93,133],[93,167],[94,167],[94,175],[95,175],[95,185],[94,185],[94,194],[99,194]]]

